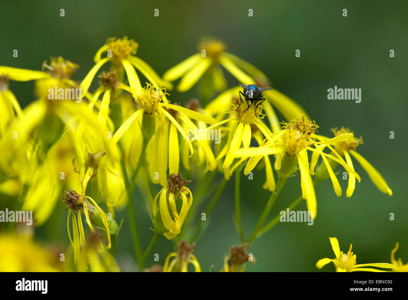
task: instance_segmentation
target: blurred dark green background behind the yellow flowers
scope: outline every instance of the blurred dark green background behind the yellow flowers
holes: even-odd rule
[[[60,9],[65,16],[60,17]],[[154,17],[153,10],[160,16]],[[342,16],[342,9],[348,16]],[[248,17],[253,9],[253,17]],[[228,51],[264,71],[273,87],[297,101],[319,124],[319,133],[331,136],[330,128],[350,127],[364,138],[358,148],[384,176],[394,195],[381,193],[364,170],[354,195],[346,198],[347,182],[338,178],[343,196],[337,198],[330,181],[316,188],[318,215],[313,226],[279,223],[259,240],[250,253],[257,259],[246,271],[318,271],[320,258],[333,257],[329,236],[339,239],[342,251],[353,243],[358,263],[389,262],[390,251],[400,242],[397,257],[408,262],[408,202],[406,160],[408,19],[406,1],[2,1],[0,64],[40,69],[50,56],[63,56],[80,64],[73,79],[81,80],[93,66],[93,56],[106,38],[129,36],[140,47],[137,56],[162,75],[164,71],[197,50],[201,36],[216,36]],[[18,58],[13,58],[13,49]],[[300,58],[295,58],[299,49]],[[395,51],[390,58],[389,51]],[[226,73],[226,72],[225,72]],[[226,73],[227,74],[227,73]],[[229,86],[236,80],[227,74]],[[361,88],[361,103],[328,100],[327,89]],[[33,100],[33,82],[11,82],[10,89],[22,106]],[[170,99],[186,102],[199,97],[198,87],[187,93],[171,92]],[[395,139],[390,139],[390,131]],[[217,177],[218,182],[221,177]],[[262,189],[264,171],[254,171],[254,180],[242,177],[242,222],[249,236],[270,193]],[[299,175],[290,178],[275,203],[271,217],[299,196]],[[217,183],[214,183],[215,185]],[[193,190],[194,194],[194,190]],[[138,197],[137,194],[134,195]],[[137,224],[143,248],[153,232],[138,200]],[[299,209],[306,209],[302,202]],[[222,268],[228,249],[239,242],[232,220],[233,180],[206,222],[205,236],[195,254],[202,269]],[[395,213],[395,220],[389,214]],[[120,220],[123,211],[117,214]],[[127,218],[115,255],[124,271],[135,270]],[[55,226],[58,222],[60,226]],[[40,240],[69,243],[66,214],[61,203],[36,234]],[[160,264],[173,250],[161,237],[153,253]],[[333,271],[332,265],[323,271]]]

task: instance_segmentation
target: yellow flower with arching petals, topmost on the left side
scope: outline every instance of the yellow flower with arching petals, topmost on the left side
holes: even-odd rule
[[[126,71],[131,89],[142,87],[135,68],[139,70],[156,89],[159,88],[159,85],[171,88],[171,83],[160,78],[149,64],[135,56],[138,47],[139,44],[134,40],[129,40],[127,36],[124,38],[109,38],[106,40],[106,43],[96,52],[93,58],[96,63],[95,66],[92,67],[80,84],[84,93],[88,91],[93,78],[102,65],[109,61],[112,62],[112,71],[116,70],[121,72],[123,69]],[[102,58],[102,53],[104,52],[107,53],[107,57]]]

